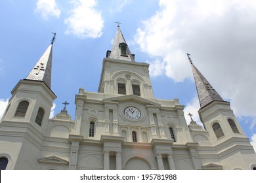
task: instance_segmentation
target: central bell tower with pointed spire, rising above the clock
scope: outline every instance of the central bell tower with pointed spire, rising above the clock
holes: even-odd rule
[[[112,51],[107,51],[102,63],[98,92],[154,98],[148,67],[135,62],[118,25]]]

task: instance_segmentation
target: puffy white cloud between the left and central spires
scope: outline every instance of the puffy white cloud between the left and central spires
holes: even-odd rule
[[[70,11],[71,16],[64,21],[67,25],[65,33],[75,35],[80,39],[100,37],[104,21],[101,13],[94,8],[97,1],[75,0],[72,4],[74,9]]]

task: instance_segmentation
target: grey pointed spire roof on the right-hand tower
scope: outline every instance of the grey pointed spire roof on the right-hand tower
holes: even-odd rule
[[[192,66],[194,80],[196,82],[196,90],[198,91],[200,107],[203,108],[213,101],[224,101],[221,95],[219,95],[219,93],[216,92],[216,90],[211,86],[211,84],[209,84],[205,77],[194,66],[192,59],[190,58],[190,54],[187,54],[187,56]]]

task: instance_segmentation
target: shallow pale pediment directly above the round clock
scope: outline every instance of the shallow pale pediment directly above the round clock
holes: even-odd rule
[[[117,97],[110,97],[103,99],[104,102],[121,102],[121,101],[135,101],[137,103],[142,103],[143,105],[152,105],[154,107],[161,107],[160,103],[156,103],[154,101],[151,101],[149,99],[144,99],[142,97],[139,97],[137,95],[122,95]]]

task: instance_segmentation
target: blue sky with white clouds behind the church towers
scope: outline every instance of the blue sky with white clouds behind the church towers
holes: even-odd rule
[[[200,124],[188,52],[215,90],[230,101],[256,146],[253,0],[0,1],[0,116],[11,90],[26,78],[56,32],[51,89],[58,98],[53,114],[68,101],[74,119],[79,88],[98,90],[102,59],[112,48],[117,21],[135,60],[150,63],[156,98],[178,98],[185,114],[191,112]]]

